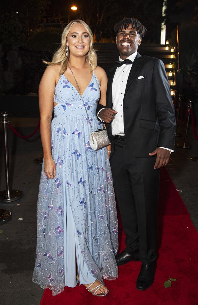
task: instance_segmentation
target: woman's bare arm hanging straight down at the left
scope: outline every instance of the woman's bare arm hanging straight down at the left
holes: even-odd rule
[[[56,79],[57,67],[49,66],[45,70],[39,85],[40,131],[44,156],[44,172],[49,179],[53,179],[56,175],[55,162],[51,156],[51,117]]]

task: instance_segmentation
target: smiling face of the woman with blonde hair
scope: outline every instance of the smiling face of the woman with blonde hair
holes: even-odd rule
[[[90,48],[90,36],[81,23],[74,23],[67,35],[70,55],[85,56]]]

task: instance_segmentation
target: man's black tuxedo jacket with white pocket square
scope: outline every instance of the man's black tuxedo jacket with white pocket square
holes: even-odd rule
[[[117,66],[108,73],[106,107],[112,108],[112,82]],[[144,78],[138,79],[139,76]],[[96,114],[104,108],[98,104]],[[150,56],[137,56],[126,84],[123,100],[127,149],[133,157],[150,157],[157,146],[174,150],[175,111],[164,63]],[[116,114],[116,115],[119,115]],[[105,123],[114,152],[111,123]]]

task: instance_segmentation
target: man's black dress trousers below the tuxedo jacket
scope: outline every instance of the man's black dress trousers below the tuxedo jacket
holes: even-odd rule
[[[148,152],[149,153],[149,152]],[[126,234],[127,253],[143,264],[157,258],[157,202],[160,170],[154,169],[156,156],[129,155],[127,143],[115,139],[110,159],[115,193]]]

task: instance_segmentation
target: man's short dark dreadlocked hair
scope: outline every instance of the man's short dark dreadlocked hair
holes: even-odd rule
[[[126,30],[126,27],[129,27],[130,24],[132,24],[132,28],[136,28],[137,34],[140,34],[140,37],[143,37],[145,35],[147,31],[146,27],[144,27],[143,24],[140,23],[140,21],[132,18],[124,18],[123,20],[118,22],[114,26],[114,32],[117,35],[119,30],[123,28]]]

